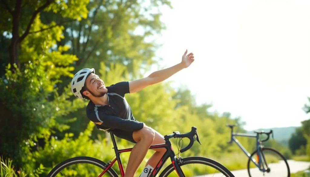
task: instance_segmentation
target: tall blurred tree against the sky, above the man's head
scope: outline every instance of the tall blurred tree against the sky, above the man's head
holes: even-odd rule
[[[169,6],[167,0],[93,0],[87,5],[88,18],[64,24],[64,36],[57,45],[70,45],[66,53],[76,55],[75,70],[88,67],[100,69],[100,62],[126,65],[131,77],[156,64],[155,51],[159,44],[154,38],[165,25],[159,7]],[[50,23],[64,21],[52,12],[42,13],[42,20]],[[135,64],[134,64],[135,63]],[[138,65],[136,65],[139,63]],[[62,77],[63,83],[71,78]],[[60,93],[66,84],[58,84]]]

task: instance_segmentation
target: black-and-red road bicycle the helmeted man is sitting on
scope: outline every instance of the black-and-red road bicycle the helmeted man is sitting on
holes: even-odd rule
[[[47,175],[48,177],[55,177],[55,176],[67,176],[67,175],[73,175],[73,176],[79,176],[79,175],[84,175],[84,176],[98,176],[101,177],[103,175],[108,175],[110,177],[118,177],[117,173],[115,172],[115,170],[112,168],[113,164],[115,162],[118,163],[118,168],[120,171],[120,176],[124,177],[124,168],[122,165],[122,160],[120,157],[121,153],[124,152],[130,152],[132,150],[132,148],[126,148],[126,149],[118,149],[117,148],[117,144],[114,138],[113,133],[110,131],[109,132],[111,135],[111,139],[113,142],[113,147],[114,147],[114,151],[115,151],[115,158],[113,160],[110,160],[109,162],[105,163],[102,162],[99,159],[93,158],[93,157],[73,157],[70,159],[67,159],[61,163],[59,163],[58,165],[56,165],[51,171],[50,173]],[[196,137],[195,137],[196,136]],[[232,175],[232,173],[222,164],[220,164],[219,162],[216,162],[212,159],[206,158],[206,157],[185,157],[182,158],[180,156],[176,157],[174,149],[171,146],[171,142],[170,142],[170,138],[179,138],[179,141],[182,140],[182,138],[188,138],[190,139],[189,144],[184,147],[181,148],[179,150],[179,153],[183,153],[185,151],[187,151],[189,148],[191,148],[193,146],[193,143],[195,140],[197,140],[197,142],[199,144],[199,137],[198,137],[198,133],[197,133],[197,128],[196,127],[192,127],[192,130],[188,133],[184,133],[181,134],[178,131],[174,131],[173,134],[170,135],[165,135],[164,139],[165,139],[165,143],[164,144],[156,144],[156,145],[152,145],[150,146],[149,149],[154,149],[154,148],[166,148],[166,153],[162,156],[162,158],[160,159],[160,161],[157,163],[156,167],[152,170],[149,171],[148,173],[148,177],[155,177],[159,171],[162,169],[163,165],[165,164],[166,160],[170,157],[171,160],[171,164],[168,165],[160,174],[159,177],[167,177],[170,175],[176,175],[179,177],[185,177],[185,176],[197,176],[195,174],[193,174],[193,172],[197,172],[199,171],[198,175],[205,175],[205,174],[209,174],[210,172],[212,172],[210,176],[225,176],[225,177],[234,177],[234,175]],[[179,154],[178,153],[178,154]],[[81,165],[81,164],[85,164],[85,165]],[[183,166],[188,165],[188,164],[193,164],[195,168],[195,170],[193,172],[188,172],[187,168],[183,168]],[[76,168],[72,168],[70,170],[64,170],[65,168],[71,166],[71,165],[81,165],[79,167]],[[90,167],[86,167],[86,165],[93,165],[95,167],[98,167],[97,170],[92,170]],[[206,170],[206,167],[203,168],[198,168],[198,165],[205,165],[206,167],[213,167],[214,169],[212,171],[207,170],[206,172],[202,172],[201,170]],[[82,171],[84,170],[85,174],[82,174],[83,172],[79,173],[79,169]],[[62,170],[64,170],[64,172],[61,172]],[[185,175],[186,174],[186,175]],[[207,177],[209,175],[205,175],[205,177]]]

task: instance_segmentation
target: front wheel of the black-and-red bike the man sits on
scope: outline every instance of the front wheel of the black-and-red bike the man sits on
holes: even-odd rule
[[[204,177],[235,177],[225,166],[206,157],[185,157],[181,163],[178,162],[178,165],[186,177],[198,175],[203,175]],[[193,166],[193,170],[190,170],[189,166]],[[172,176],[178,177],[172,164],[167,166],[159,175],[159,177]]]

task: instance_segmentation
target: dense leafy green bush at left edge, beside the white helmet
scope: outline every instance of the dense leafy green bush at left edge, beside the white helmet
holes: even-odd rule
[[[17,159],[25,155],[28,151],[26,148],[36,145],[33,141],[38,141],[38,138],[47,140],[52,129],[62,131],[68,128],[57,124],[56,117],[83,106],[81,100],[67,100],[72,95],[69,88],[66,88],[63,95],[57,94],[54,84],[57,83],[57,78],[65,73],[57,72],[58,67],[46,67],[48,62],[48,55],[42,55],[42,58],[25,65],[24,71],[16,68],[15,73],[9,70],[9,65],[6,77],[0,79],[1,110],[5,115],[5,119],[1,119],[1,125],[11,125],[1,128],[3,146],[0,152],[19,163],[21,161]]]

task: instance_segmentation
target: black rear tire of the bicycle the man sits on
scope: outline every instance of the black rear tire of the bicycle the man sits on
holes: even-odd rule
[[[102,170],[104,170],[104,166],[107,164],[102,162],[99,159],[93,158],[93,157],[86,157],[86,156],[79,156],[79,157],[72,157],[67,160],[64,160],[63,162],[60,162],[58,165],[56,165],[47,175],[47,177],[55,177],[61,170],[64,168],[78,163],[88,163],[95,166],[100,167]],[[109,168],[106,171],[111,177],[118,177],[117,173],[112,169]]]

